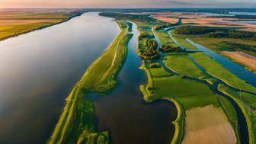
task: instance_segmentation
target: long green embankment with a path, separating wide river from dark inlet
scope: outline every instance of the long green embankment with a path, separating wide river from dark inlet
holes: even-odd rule
[[[86,94],[103,93],[116,84],[116,77],[126,59],[127,46],[133,34],[128,26],[117,21],[121,32],[110,47],[85,72],[66,99],[59,122],[47,143],[49,144],[107,144],[109,134],[97,132],[94,126],[94,103]]]

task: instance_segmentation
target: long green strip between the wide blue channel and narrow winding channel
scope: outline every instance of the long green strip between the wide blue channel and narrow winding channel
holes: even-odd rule
[[[225,69],[221,64],[211,59],[209,56],[206,56],[204,53],[191,53],[190,56],[194,57],[195,61],[200,66],[203,66],[210,75],[221,79],[223,82],[226,82],[226,84],[234,88],[256,93],[256,88],[242,81],[242,79],[232,74],[232,72],[229,72],[229,70]]]

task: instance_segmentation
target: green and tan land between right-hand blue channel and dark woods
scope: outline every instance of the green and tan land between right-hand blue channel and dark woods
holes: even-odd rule
[[[206,37],[205,35],[201,34],[175,34],[175,30],[172,30],[171,34],[176,40],[178,40],[179,43],[188,49],[194,50],[195,46],[193,46],[191,43],[188,43],[186,39],[193,40],[195,43],[206,46],[208,49],[213,50],[221,56],[225,56],[231,59],[233,62],[243,66],[245,69],[255,73],[254,66],[251,66],[250,64],[251,61],[255,62],[254,59],[251,59],[251,57],[255,57],[255,40],[222,37],[214,38]],[[248,59],[248,57],[250,57],[250,59]]]

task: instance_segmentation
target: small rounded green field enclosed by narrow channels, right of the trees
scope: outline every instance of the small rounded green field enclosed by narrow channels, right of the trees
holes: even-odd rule
[[[187,56],[187,53],[169,54],[166,56],[164,62],[168,69],[171,69],[172,71],[181,75],[188,75],[199,79],[207,77],[206,74],[204,74],[200,69],[197,68],[197,66],[194,65],[194,63]]]

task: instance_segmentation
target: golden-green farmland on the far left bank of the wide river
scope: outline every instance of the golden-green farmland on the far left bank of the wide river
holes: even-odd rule
[[[0,41],[69,21],[82,11],[0,11]]]

